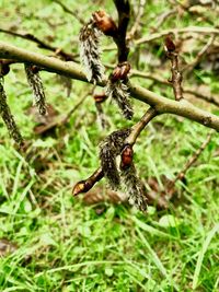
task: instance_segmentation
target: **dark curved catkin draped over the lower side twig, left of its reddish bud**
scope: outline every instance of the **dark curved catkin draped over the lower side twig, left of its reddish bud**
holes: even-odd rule
[[[116,156],[120,153],[125,139],[129,136],[129,133],[130,129],[114,131],[100,144],[101,166],[112,189],[118,189],[120,185]]]

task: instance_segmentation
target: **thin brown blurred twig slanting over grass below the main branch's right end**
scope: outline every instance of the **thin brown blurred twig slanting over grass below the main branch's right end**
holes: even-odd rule
[[[203,144],[200,145],[200,148],[193,154],[193,156],[186,162],[186,164],[184,165],[183,170],[176,175],[176,177],[174,178],[174,180],[172,180],[170,183],[170,186],[174,186],[175,183],[177,180],[182,180],[185,177],[186,172],[191,168],[191,166],[198,160],[198,157],[200,156],[200,154],[203,153],[203,151],[206,149],[206,147],[208,145],[208,143],[211,140],[214,131],[210,130],[207,139],[203,142]]]

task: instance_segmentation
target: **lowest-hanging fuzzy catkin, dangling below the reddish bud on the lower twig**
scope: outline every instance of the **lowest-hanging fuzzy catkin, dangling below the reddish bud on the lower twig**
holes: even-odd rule
[[[147,210],[147,197],[143,195],[142,184],[137,176],[134,163],[128,168],[120,171],[120,177],[129,203],[145,212]]]

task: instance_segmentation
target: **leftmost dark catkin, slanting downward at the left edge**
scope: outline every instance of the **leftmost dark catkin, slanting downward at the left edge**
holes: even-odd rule
[[[0,114],[8,128],[9,135],[14,139],[18,145],[23,144],[23,138],[16,127],[10,107],[7,104],[7,95],[3,89],[3,79],[0,77]]]

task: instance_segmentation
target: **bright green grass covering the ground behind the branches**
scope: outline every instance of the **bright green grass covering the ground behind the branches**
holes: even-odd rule
[[[74,1],[64,2],[78,8]],[[112,1],[102,2],[114,11]],[[84,19],[99,8],[91,3],[87,8],[85,0],[81,3]],[[149,16],[146,14],[145,19],[154,26],[157,15],[168,9],[166,1],[149,1],[148,5]],[[53,1],[0,1],[0,8],[2,27],[18,25],[19,31],[45,39],[51,37],[54,45],[78,51],[80,25]],[[180,21],[170,19],[162,28],[175,23],[206,25],[185,15]],[[149,33],[146,25],[143,33]],[[3,34],[1,39],[39,51],[27,40]],[[149,45],[146,48],[160,54]],[[108,56],[115,61],[112,52]],[[148,65],[141,63],[140,68],[146,70]],[[43,72],[42,78],[47,101],[61,114],[89,90],[82,82],[73,81],[71,96],[66,98],[55,75]],[[210,78],[216,84],[212,74]],[[216,132],[198,162],[189,168],[183,191],[177,184],[181,197],[169,210],[150,207],[148,214],[142,214],[128,205],[85,206],[83,195],[72,198],[71,189],[99,166],[99,142],[114,129],[137,121],[147,106],[135,102],[134,121],[126,122],[117,108],[106,103],[104,108],[112,126],[102,131],[95,122],[93,101],[88,97],[69,124],[51,137],[42,138],[34,135],[35,122],[25,114],[32,104],[32,93],[22,66],[13,66],[4,82],[12,113],[31,144],[27,163],[0,124],[0,238],[18,246],[0,260],[0,291],[218,291],[219,137]],[[137,82],[151,85],[148,80]],[[216,90],[214,84],[210,86]],[[153,90],[172,96],[172,91],[163,85],[155,84]],[[155,176],[159,180],[164,174],[173,178],[208,132],[209,129],[189,120],[158,117],[135,145],[140,177],[146,180]],[[97,208],[104,211],[97,214]],[[166,215],[172,215],[175,224],[162,224],[170,218]]]

